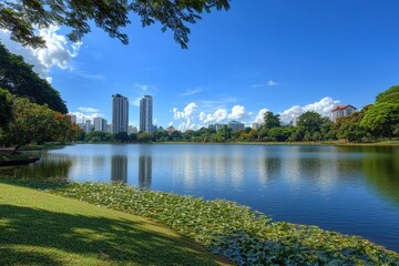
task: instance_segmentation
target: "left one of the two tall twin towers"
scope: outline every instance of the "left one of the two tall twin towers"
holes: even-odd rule
[[[127,133],[129,101],[121,94],[112,95],[112,133]]]

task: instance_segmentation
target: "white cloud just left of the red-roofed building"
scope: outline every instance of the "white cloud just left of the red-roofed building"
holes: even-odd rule
[[[321,114],[321,116],[329,116],[331,110],[339,104],[340,101],[332,100],[331,98],[324,98],[318,102],[309,103],[304,106],[295,105],[280,113],[282,121],[290,121],[295,116],[299,116],[307,111],[314,111]]]

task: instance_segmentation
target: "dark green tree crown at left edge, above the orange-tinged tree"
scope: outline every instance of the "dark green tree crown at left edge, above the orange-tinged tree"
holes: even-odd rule
[[[54,111],[68,113],[60,93],[41,79],[32,68],[33,65],[27,64],[22,57],[10,53],[0,43],[0,88],[13,95],[28,98],[31,102],[48,104]]]

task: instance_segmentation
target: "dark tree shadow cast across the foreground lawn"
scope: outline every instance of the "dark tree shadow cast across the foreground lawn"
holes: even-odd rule
[[[63,265],[54,248],[116,264],[214,264],[202,257],[202,247],[141,223],[0,205],[1,265]]]

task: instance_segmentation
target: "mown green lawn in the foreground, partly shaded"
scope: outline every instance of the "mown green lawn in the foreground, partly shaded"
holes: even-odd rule
[[[0,183],[0,265],[215,265],[149,218]]]

